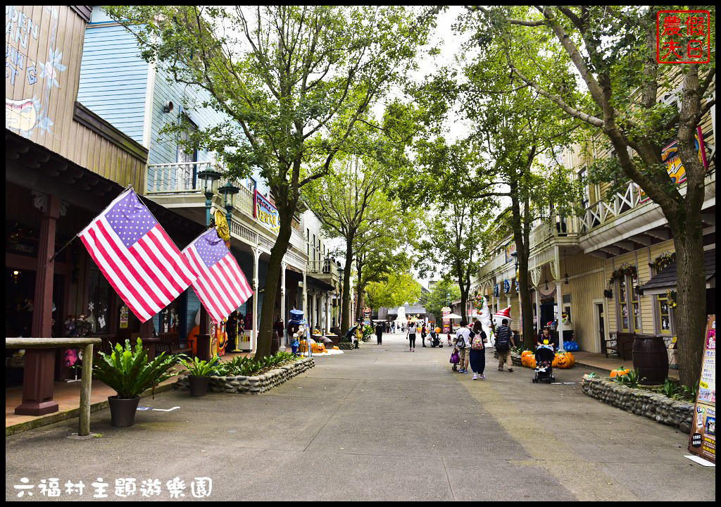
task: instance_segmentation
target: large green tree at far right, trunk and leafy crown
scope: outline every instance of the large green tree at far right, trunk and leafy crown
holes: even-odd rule
[[[579,118],[606,136],[615,151],[606,180],[632,180],[660,206],[673,233],[678,259],[676,332],[679,374],[684,384],[696,384],[700,375],[706,322],[702,204],[707,169],[696,151],[696,128],[715,105],[715,31],[711,30],[710,63],[661,66],[656,60],[656,14],[647,6],[536,6],[483,13],[481,33],[487,24],[503,34],[508,67],[524,84],[551,100],[572,118]],[[715,7],[710,26],[715,26]],[[556,54],[564,53],[583,80],[567,79],[561,66],[539,63],[542,72],[530,75],[523,63],[538,62],[537,45],[519,47],[518,37],[554,40]],[[681,40],[686,48],[687,40]],[[512,48],[513,46],[513,48]],[[685,51],[682,50],[682,51]],[[680,78],[676,100],[660,100],[673,93]],[[588,90],[588,92],[586,92]],[[686,169],[686,185],[673,185],[661,150],[678,142]]]

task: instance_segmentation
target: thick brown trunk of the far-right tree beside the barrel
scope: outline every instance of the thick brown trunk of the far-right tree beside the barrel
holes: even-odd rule
[[[701,216],[669,221],[676,248],[676,346],[681,384],[699,383],[706,326],[706,273]]]

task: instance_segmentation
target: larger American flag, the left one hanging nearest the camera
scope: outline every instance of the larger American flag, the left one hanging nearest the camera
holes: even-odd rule
[[[118,195],[78,236],[141,322],[195,281],[185,257],[132,188]]]

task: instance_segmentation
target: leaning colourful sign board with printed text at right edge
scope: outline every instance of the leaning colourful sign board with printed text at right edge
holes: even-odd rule
[[[709,315],[689,452],[716,462],[716,316]]]

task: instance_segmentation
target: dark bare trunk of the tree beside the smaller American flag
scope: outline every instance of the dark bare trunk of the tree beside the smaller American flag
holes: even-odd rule
[[[292,206],[292,208],[294,211],[295,206]],[[278,207],[280,230],[278,231],[278,239],[275,241],[273,248],[270,249],[270,260],[268,261],[267,274],[265,275],[263,304],[260,309],[260,326],[258,327],[258,343],[255,352],[256,357],[270,356],[270,340],[272,339],[273,322],[275,318],[275,296],[278,292],[280,270],[283,268],[283,257],[286,255],[288,244],[291,242],[293,211],[288,212],[288,209],[291,209],[291,206]],[[303,290],[306,290],[306,288],[304,287]],[[257,297],[257,288],[254,297]],[[257,317],[253,315],[253,318],[256,319]]]

